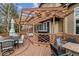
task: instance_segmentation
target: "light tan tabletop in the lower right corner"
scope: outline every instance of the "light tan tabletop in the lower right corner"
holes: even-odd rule
[[[79,56],[79,44],[68,42],[63,44],[63,47],[66,49],[66,53],[69,52],[73,56]]]

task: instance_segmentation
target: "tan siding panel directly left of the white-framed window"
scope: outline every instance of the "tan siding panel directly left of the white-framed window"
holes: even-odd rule
[[[66,32],[67,33],[74,33],[74,13],[70,14],[65,19],[65,25],[66,25]]]

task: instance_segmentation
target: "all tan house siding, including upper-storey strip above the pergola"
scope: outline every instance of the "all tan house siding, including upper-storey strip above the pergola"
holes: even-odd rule
[[[58,3],[45,3],[45,4],[42,4],[41,7],[57,7],[57,6],[60,6],[60,5],[61,4],[58,4]],[[74,8],[76,8],[76,7],[79,7],[79,4],[74,4],[71,7],[69,7],[69,9],[74,10]],[[64,20],[63,20],[63,29],[64,29],[65,33],[72,33],[72,34],[75,33],[75,30],[74,30],[74,26],[75,26],[74,23],[75,22],[74,22],[74,20],[75,20],[74,19],[74,12],[64,18]],[[52,29],[52,31],[53,31],[53,29]],[[56,28],[55,28],[55,33],[57,31],[58,30],[56,30]]]

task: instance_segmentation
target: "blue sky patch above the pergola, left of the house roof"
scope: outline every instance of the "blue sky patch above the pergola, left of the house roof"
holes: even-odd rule
[[[22,8],[37,8],[39,4],[37,3],[17,3],[17,11],[20,12]]]

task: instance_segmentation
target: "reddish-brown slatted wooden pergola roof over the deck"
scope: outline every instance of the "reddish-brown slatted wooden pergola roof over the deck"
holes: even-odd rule
[[[73,12],[72,10],[64,7],[23,8],[21,11],[20,20],[18,20],[16,23],[18,25],[26,25],[26,24],[36,25],[42,21],[52,19],[54,28],[55,17],[64,19],[72,12]]]

